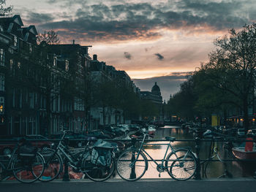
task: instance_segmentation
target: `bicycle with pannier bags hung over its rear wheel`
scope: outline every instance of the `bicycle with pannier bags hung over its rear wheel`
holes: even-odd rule
[[[97,141],[97,138],[85,138],[84,140],[87,143],[84,150],[82,152],[71,153],[64,139],[66,134],[72,134],[72,131],[62,131],[63,135],[55,149],[48,148],[42,150],[42,155],[45,158],[45,172],[39,180],[48,182],[59,177],[59,174],[63,170],[63,158],[61,155],[67,159],[68,165],[72,167],[74,172],[83,172],[83,174],[86,174],[93,181],[108,180],[115,170],[113,155],[110,156],[110,164],[108,165],[93,164],[91,163],[91,153],[95,147],[91,146],[90,143]]]

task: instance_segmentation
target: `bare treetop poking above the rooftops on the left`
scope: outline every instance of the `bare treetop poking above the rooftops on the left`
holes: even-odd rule
[[[49,45],[59,44],[58,33],[53,29],[45,31],[43,34],[39,33],[37,36],[37,44],[39,45],[41,42],[46,42]]]

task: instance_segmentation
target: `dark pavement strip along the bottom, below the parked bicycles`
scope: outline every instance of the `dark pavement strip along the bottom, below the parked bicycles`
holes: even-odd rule
[[[178,182],[170,179],[141,179],[136,182],[124,180],[108,180],[97,183],[89,180],[71,180],[63,182],[54,180],[50,183],[23,184],[16,181],[0,182],[1,191],[11,192],[45,192],[45,191],[75,191],[75,192],[255,192],[256,180],[253,178],[233,178],[233,179],[208,179],[208,180],[188,180]]]

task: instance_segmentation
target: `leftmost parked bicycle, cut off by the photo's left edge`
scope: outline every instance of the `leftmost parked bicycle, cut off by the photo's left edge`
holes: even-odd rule
[[[2,169],[1,174],[12,172],[16,180],[21,183],[33,183],[39,180],[45,169],[44,158],[39,152],[34,154],[21,154],[20,147],[26,142],[25,139],[20,139],[15,145],[11,155],[4,155],[3,157],[9,158],[7,166],[4,166],[4,162],[0,161],[0,167]],[[22,155],[24,155],[22,157]],[[4,179],[6,179],[5,177]],[[4,180],[1,179],[1,180]]]

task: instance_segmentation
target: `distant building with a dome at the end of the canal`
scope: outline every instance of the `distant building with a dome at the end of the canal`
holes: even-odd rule
[[[157,82],[155,82],[154,86],[150,91],[140,91],[141,99],[146,99],[148,101],[152,101],[155,104],[162,104],[162,96],[159,86]]]

